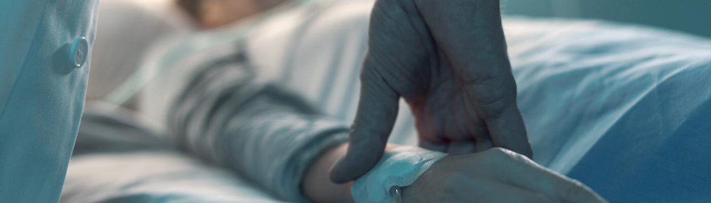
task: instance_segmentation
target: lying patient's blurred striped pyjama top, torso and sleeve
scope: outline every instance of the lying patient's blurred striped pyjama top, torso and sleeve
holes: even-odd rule
[[[185,150],[283,199],[305,201],[300,183],[311,161],[347,141],[372,5],[302,4],[247,38],[225,40],[213,31],[181,40],[164,50],[174,60],[159,63],[166,75],[145,89],[141,108],[168,121],[166,134]],[[205,48],[205,40],[220,43]],[[415,138],[401,107],[393,134]]]

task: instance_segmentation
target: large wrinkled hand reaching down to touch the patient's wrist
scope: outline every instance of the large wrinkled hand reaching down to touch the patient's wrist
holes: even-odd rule
[[[497,0],[375,3],[351,145],[331,180],[354,180],[378,162],[400,97],[417,119],[423,148],[532,155],[499,10]]]

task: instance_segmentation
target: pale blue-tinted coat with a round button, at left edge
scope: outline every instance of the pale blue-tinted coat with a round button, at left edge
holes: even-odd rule
[[[0,0],[0,202],[58,202],[98,0]]]

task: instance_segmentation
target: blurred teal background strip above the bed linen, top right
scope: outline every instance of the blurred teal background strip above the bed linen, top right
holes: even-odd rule
[[[504,13],[598,18],[711,36],[709,0],[501,0]]]

